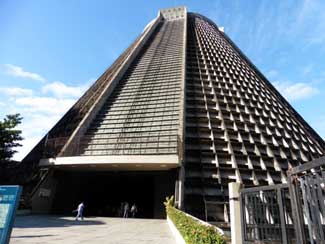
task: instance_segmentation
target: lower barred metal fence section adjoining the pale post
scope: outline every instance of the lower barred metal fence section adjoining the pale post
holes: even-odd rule
[[[241,190],[244,243],[295,243],[288,185]]]

